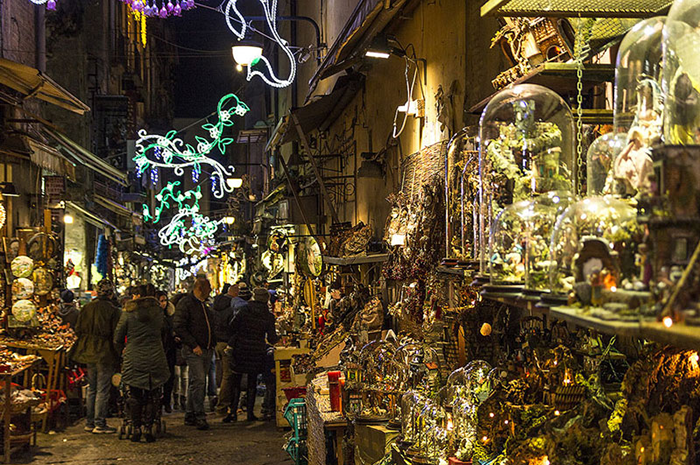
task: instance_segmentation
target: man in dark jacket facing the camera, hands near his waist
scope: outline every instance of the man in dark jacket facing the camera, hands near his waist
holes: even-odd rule
[[[214,315],[205,303],[209,294],[211,285],[207,278],[197,278],[192,292],[178,302],[174,319],[175,334],[182,340],[182,356],[189,371],[185,424],[199,430],[209,429],[204,397],[206,377],[216,347]]]

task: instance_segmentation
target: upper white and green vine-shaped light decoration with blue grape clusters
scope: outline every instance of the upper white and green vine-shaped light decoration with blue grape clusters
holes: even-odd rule
[[[211,140],[197,136],[197,146],[185,144],[182,139],[175,137],[177,131],[170,131],[166,135],[148,134],[145,129],[139,131],[139,139],[136,141],[136,156],[134,162],[138,175],[147,169],[163,168],[174,169],[175,174],[182,176],[185,168],[191,168],[196,177],[201,173],[202,165],[209,165],[213,170],[212,177],[218,177],[216,188],[212,191],[214,197],[220,199],[225,193],[233,192],[233,188],[226,183],[226,178],[233,175],[233,167],[225,167],[208,155],[217,148],[226,152],[226,147],[233,143],[233,138],[223,137],[224,128],[233,126],[231,118],[244,116],[250,108],[241,102],[234,94],[224,96],[217,107],[218,121],[216,124],[207,123],[202,126],[209,132]]]

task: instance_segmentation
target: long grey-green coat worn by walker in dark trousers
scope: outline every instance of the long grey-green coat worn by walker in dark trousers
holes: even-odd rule
[[[114,343],[126,350],[122,363],[122,382],[139,389],[153,390],[170,378],[163,349],[165,315],[153,297],[130,300],[124,304]]]

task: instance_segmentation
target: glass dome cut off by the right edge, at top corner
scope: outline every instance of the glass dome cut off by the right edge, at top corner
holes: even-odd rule
[[[676,0],[663,33],[666,144],[700,144],[700,3]]]

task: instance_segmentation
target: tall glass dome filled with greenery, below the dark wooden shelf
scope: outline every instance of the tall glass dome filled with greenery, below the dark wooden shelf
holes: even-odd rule
[[[572,190],[574,120],[554,91],[521,84],[497,93],[481,114],[479,141],[482,244],[506,205],[545,192]],[[486,267],[482,253],[481,271]]]

